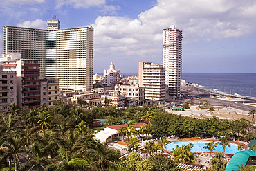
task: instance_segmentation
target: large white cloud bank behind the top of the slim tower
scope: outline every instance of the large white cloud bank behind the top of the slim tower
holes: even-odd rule
[[[201,38],[209,41],[240,37],[254,31],[255,11],[255,1],[158,0],[156,6],[141,12],[138,19],[98,17],[92,24],[95,48],[101,49],[102,53],[119,49],[126,55],[134,55],[136,53],[132,51],[145,49],[151,55],[160,54],[163,28],[170,24],[183,30],[184,43]],[[106,49],[109,46],[111,48]],[[139,54],[145,55],[145,52]]]

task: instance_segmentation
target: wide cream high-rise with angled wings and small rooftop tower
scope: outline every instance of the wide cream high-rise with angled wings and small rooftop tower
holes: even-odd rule
[[[41,78],[59,78],[60,89],[89,91],[93,87],[93,28],[60,29],[48,19],[48,30],[3,26],[3,54],[21,53],[39,60]]]

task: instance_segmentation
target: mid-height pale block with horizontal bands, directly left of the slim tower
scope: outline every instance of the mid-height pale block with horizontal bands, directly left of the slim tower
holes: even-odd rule
[[[139,62],[138,83],[145,87],[145,98],[165,101],[165,68],[161,64]]]

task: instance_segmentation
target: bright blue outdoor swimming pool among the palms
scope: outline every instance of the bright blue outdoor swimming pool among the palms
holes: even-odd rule
[[[167,143],[165,145],[165,148],[169,151],[173,151],[174,149],[176,149],[177,145],[179,147],[181,147],[181,145],[188,145],[188,143],[193,144],[192,152],[210,152],[210,150],[203,148],[205,146],[205,143],[210,143],[210,141],[179,141],[179,142],[172,142],[172,143]],[[217,143],[217,142],[214,141],[214,143]],[[240,150],[237,150],[237,146],[238,145],[233,144],[233,143],[230,143],[230,147],[228,147],[228,145],[226,145],[225,153],[239,152]],[[223,152],[222,145],[218,144],[217,147],[215,147],[215,149],[216,150],[214,150],[213,152]]]

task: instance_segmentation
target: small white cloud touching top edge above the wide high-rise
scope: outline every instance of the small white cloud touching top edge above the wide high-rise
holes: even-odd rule
[[[74,8],[89,8],[91,6],[102,6],[105,0],[56,0],[57,8],[61,6],[71,5]]]

